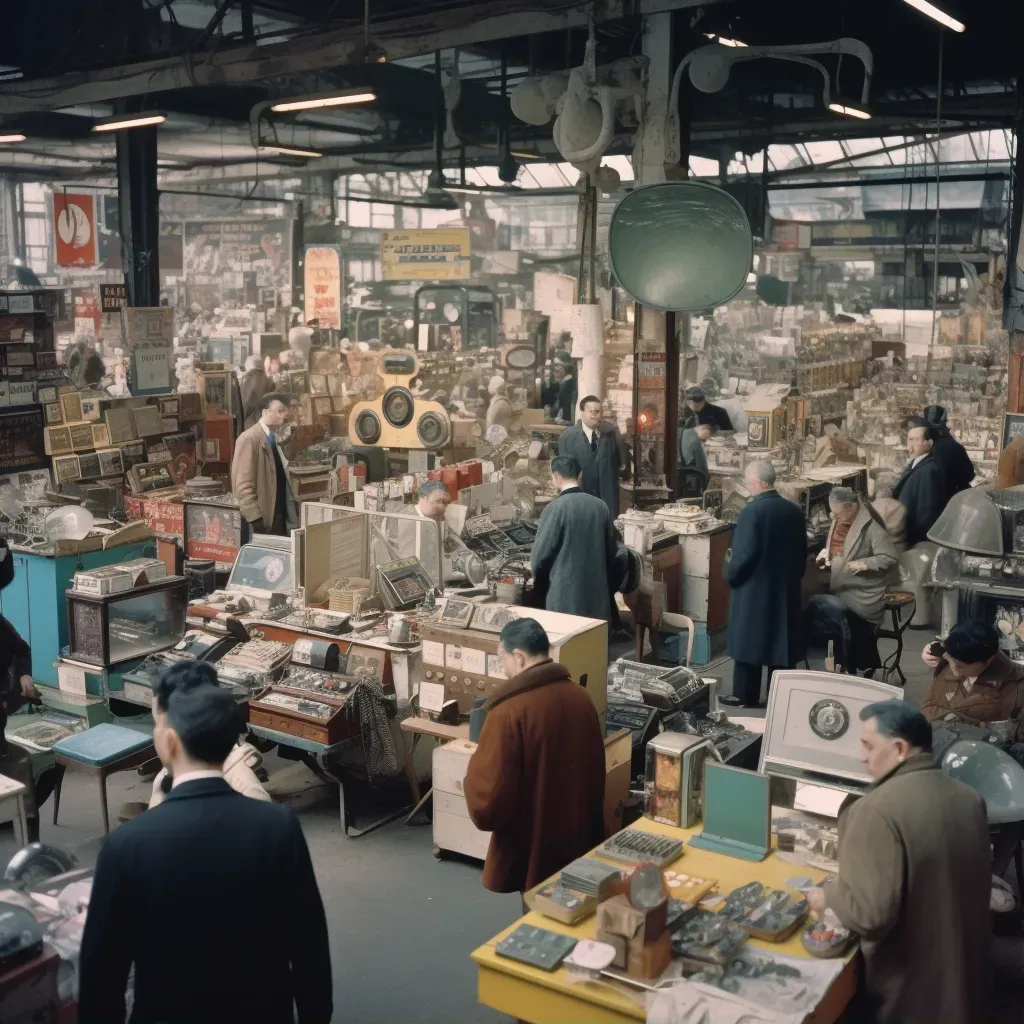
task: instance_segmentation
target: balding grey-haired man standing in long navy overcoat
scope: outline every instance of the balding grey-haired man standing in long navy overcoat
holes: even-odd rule
[[[735,666],[732,696],[725,703],[756,708],[761,673],[792,668],[804,656],[801,584],[807,561],[807,528],[800,506],[775,489],[770,462],[746,466],[751,501],[739,514],[726,555],[729,655]]]

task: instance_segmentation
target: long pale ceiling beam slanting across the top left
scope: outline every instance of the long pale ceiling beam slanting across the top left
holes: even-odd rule
[[[524,7],[536,6],[527,0]],[[709,0],[595,0],[596,23],[636,14],[658,13],[707,5]],[[722,2],[722,0],[710,0]],[[453,46],[474,46],[499,39],[560,32],[587,25],[587,8],[512,10],[519,0],[485,0],[458,10],[381,19],[373,26],[374,39],[392,60],[419,56]],[[347,28],[296,36],[266,46],[234,46],[79,72],[49,79],[12,82],[0,89],[0,114],[58,110],[76,103],[110,102],[125,96],[217,85],[251,85],[284,75],[324,71],[351,63],[362,44],[362,30]]]

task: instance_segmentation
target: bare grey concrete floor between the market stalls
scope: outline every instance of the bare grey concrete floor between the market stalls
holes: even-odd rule
[[[921,648],[928,631],[908,631],[903,669],[906,696],[916,702],[929,670]],[[883,654],[886,652],[883,647]],[[612,654],[630,656],[629,645]],[[811,656],[811,667],[822,666]],[[723,692],[731,685],[732,665],[717,662],[706,675],[719,676]],[[746,713],[751,714],[751,713]],[[753,714],[763,714],[755,712]],[[269,770],[294,773],[273,755]],[[134,772],[108,783],[112,815],[120,804],[147,800],[148,783]],[[362,825],[384,808],[408,801],[403,783],[377,794],[355,790],[349,800]],[[432,856],[431,828],[407,826],[403,817],[370,835],[346,838],[338,819],[337,794],[314,787],[295,802],[309,844],[327,909],[334,969],[335,1020],[346,1022],[444,1021],[494,1024],[507,1018],[478,1005],[476,972],[470,952],[519,913],[518,895],[499,896],[480,885],[480,865]],[[52,800],[43,809],[42,838],[91,863],[102,842],[95,782],[69,772],[60,802],[60,823],[53,825]],[[10,831],[0,828],[0,864],[14,852]],[[272,942],[272,936],[263,941]],[[254,947],[258,951],[258,946]],[[1024,1021],[1024,940],[996,941],[994,962],[997,1008],[993,1020]]]

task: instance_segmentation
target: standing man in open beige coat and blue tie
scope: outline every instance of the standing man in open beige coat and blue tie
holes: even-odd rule
[[[270,392],[259,401],[260,418],[234,442],[231,490],[254,534],[287,537],[298,526],[288,462],[279,434],[288,422],[287,394]]]

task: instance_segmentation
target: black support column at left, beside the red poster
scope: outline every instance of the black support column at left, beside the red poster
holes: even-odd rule
[[[138,108],[138,104],[133,104]],[[130,109],[119,113],[134,113]],[[157,127],[117,135],[121,256],[130,306],[160,305],[160,193]]]

